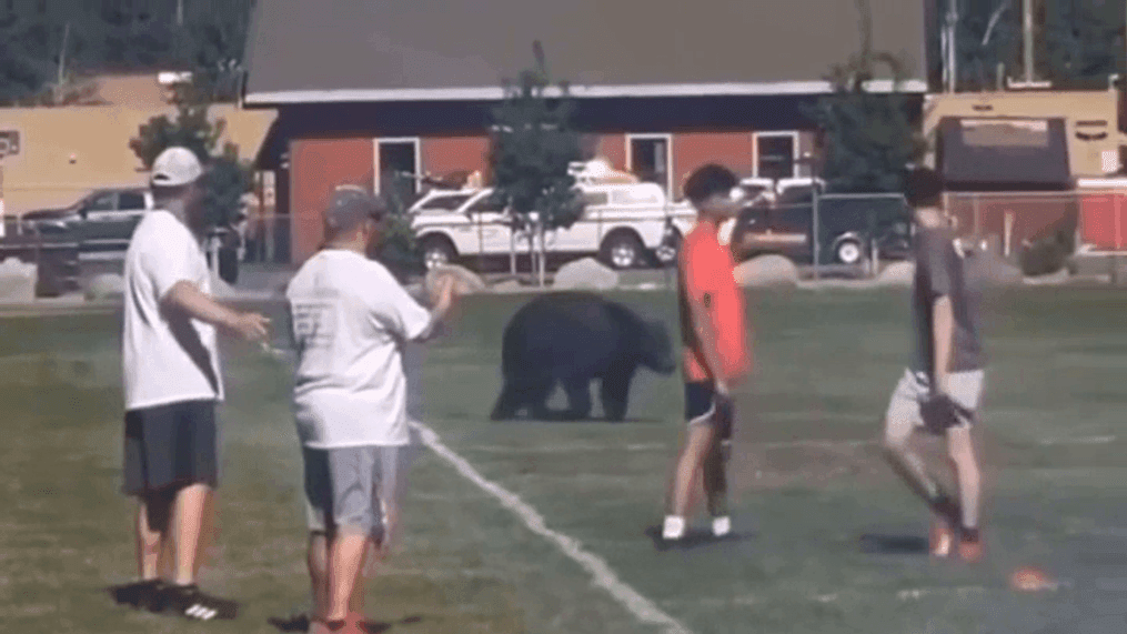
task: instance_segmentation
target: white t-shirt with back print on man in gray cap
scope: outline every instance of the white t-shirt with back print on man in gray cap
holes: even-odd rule
[[[427,334],[431,313],[383,265],[338,249],[310,258],[286,300],[301,443],[319,449],[409,444],[403,346]]]

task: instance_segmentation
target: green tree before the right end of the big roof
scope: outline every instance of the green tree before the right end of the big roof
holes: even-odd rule
[[[872,48],[868,0],[857,0],[861,15],[861,50],[833,66],[832,95],[807,114],[818,124],[820,176],[834,191],[900,191],[905,167],[919,161],[926,142],[912,120],[907,96],[899,86],[907,77],[900,56]],[[890,93],[870,92],[866,83],[884,65],[893,78]]]

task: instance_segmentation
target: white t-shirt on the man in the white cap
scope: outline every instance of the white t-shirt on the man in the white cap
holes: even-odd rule
[[[199,242],[169,212],[147,212],[125,251],[122,365],[126,410],[223,400],[215,327],[160,307],[165,294],[181,280],[211,294]]]

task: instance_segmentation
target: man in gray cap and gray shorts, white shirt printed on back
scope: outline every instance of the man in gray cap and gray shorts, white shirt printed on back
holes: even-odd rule
[[[314,633],[363,632],[365,554],[369,542],[387,553],[396,536],[410,444],[403,345],[431,338],[454,301],[446,277],[427,311],[365,257],[384,213],[363,189],[337,188],[325,217],[327,241],[286,289]]]

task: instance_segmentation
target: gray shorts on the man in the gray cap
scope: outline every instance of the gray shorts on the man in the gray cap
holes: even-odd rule
[[[309,530],[382,536],[387,508],[399,504],[405,449],[302,447]]]

